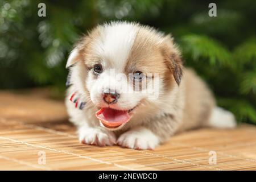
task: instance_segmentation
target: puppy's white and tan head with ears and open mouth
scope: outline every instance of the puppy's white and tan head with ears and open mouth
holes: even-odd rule
[[[182,75],[171,36],[137,23],[94,28],[73,49],[67,67],[77,62],[86,72],[81,73],[81,84],[99,109],[96,117],[112,130],[120,129],[148,103],[158,103],[180,84]]]

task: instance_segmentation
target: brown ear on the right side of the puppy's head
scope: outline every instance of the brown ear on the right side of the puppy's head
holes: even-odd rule
[[[164,37],[162,52],[168,69],[172,72],[177,85],[180,85],[183,63],[180,57],[180,52],[175,46],[171,35]]]

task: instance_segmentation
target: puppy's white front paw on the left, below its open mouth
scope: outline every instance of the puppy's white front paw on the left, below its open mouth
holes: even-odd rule
[[[81,127],[79,140],[81,143],[96,146],[113,146],[116,143],[114,133],[92,127]]]

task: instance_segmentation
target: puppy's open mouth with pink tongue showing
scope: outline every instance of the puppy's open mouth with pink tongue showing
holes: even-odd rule
[[[130,120],[128,111],[115,110],[109,107],[98,110],[96,117],[100,119],[106,127],[117,127]]]

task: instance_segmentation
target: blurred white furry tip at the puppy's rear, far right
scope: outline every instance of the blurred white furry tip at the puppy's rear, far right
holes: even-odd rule
[[[236,119],[229,111],[226,111],[221,107],[215,107],[209,119],[208,126],[232,129],[236,127]]]

